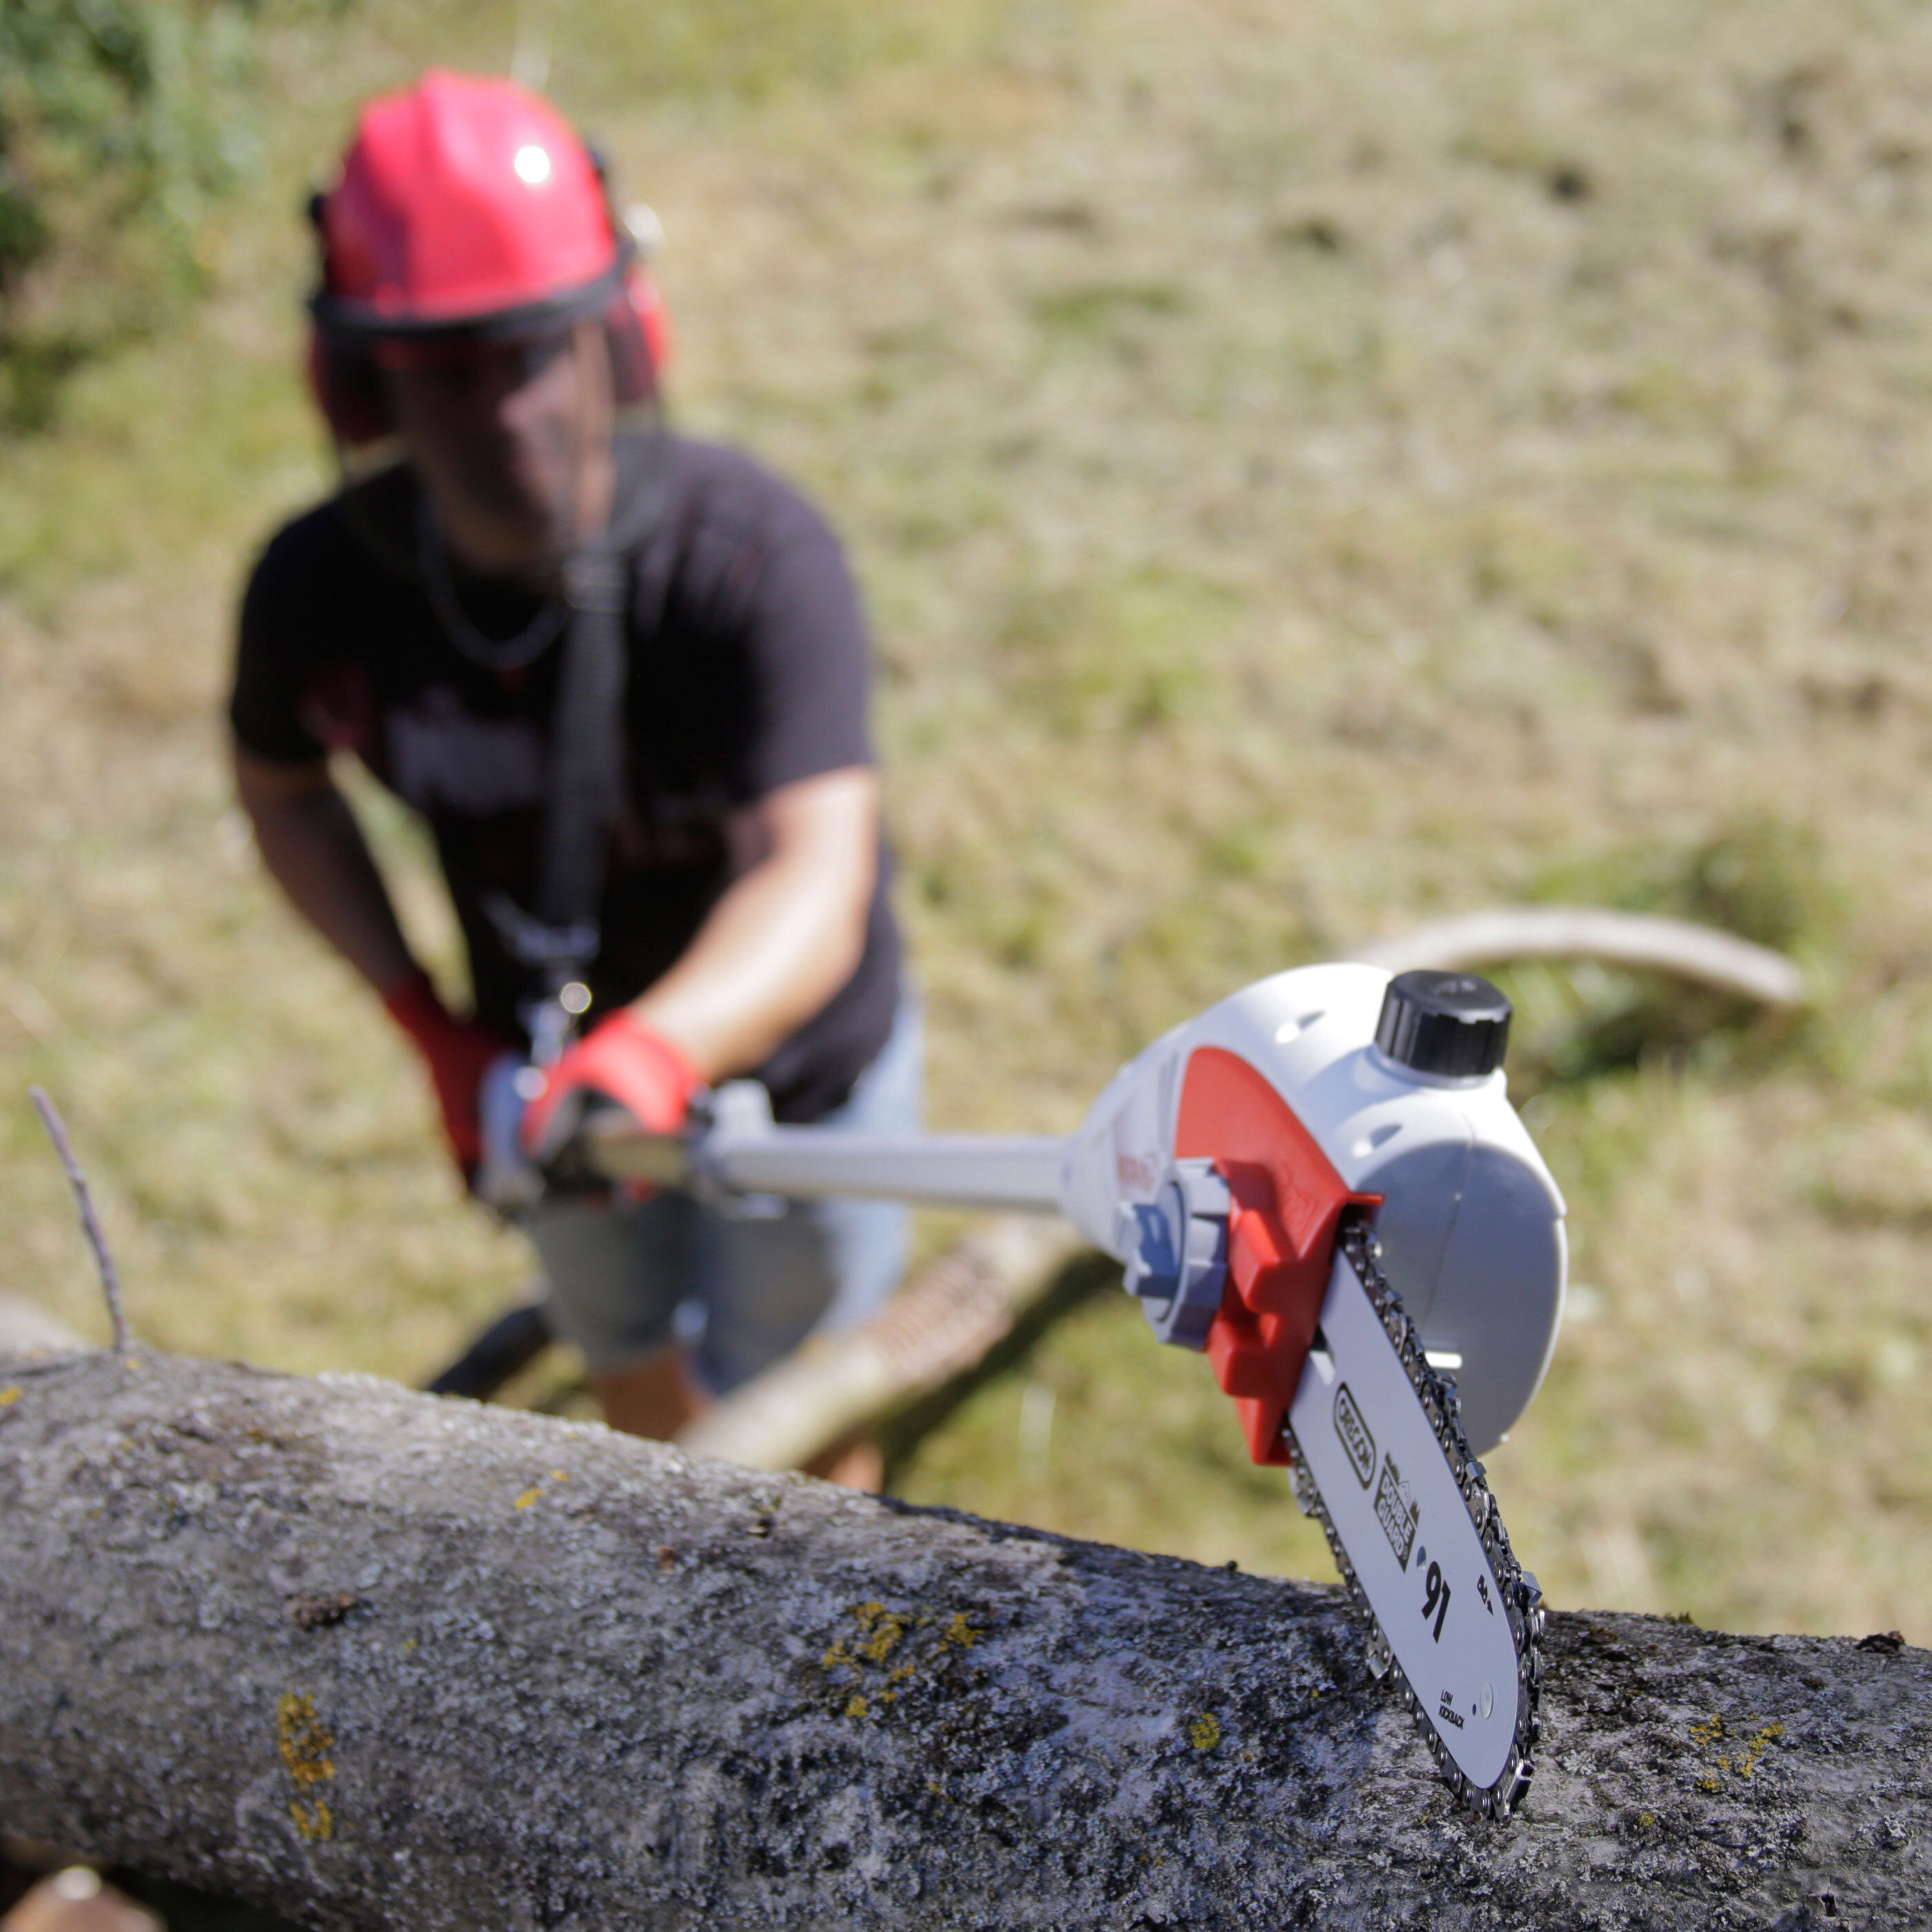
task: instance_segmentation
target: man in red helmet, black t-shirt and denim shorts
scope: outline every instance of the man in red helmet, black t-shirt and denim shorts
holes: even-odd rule
[[[663,1132],[746,1074],[781,1121],[912,1130],[858,599],[796,493],[657,421],[663,317],[595,158],[531,95],[429,73],[363,112],[315,216],[317,398],[338,440],[400,460],[257,564],[236,779],[269,871],[419,1049],[458,1165],[475,1177],[485,1072],[556,993],[529,933],[572,922],[562,1003],[587,1012],[522,1074],[527,1151],[587,1095]],[[583,697],[599,609],[605,703]],[[473,1016],[410,956],[330,753],[427,821]],[[574,864],[585,902],[558,912]],[[895,1208],[726,1219],[680,1192],[545,1200],[526,1225],[605,1414],[657,1437],[866,1316],[906,1246]]]

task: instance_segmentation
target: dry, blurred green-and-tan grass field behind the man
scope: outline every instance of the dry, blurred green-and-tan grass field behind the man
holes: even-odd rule
[[[100,1325],[29,1080],[158,1345],[417,1378],[524,1277],[253,867],[218,726],[251,545],[327,481],[301,185],[365,89],[522,46],[663,216],[682,423],[852,543],[935,1124],[1065,1130],[1159,1028],[1453,910],[1785,947],[1781,1030],[1511,980],[1580,1287],[1492,1480],[1557,1604],[1932,1642],[1932,15],[638,17],[278,25],[207,303],[8,446],[0,1285]],[[902,1488],[1327,1573],[1124,1296]]]

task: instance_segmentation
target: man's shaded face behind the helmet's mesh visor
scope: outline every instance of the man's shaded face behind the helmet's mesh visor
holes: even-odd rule
[[[487,576],[554,580],[611,512],[599,323],[518,342],[388,344],[377,361],[450,549]]]

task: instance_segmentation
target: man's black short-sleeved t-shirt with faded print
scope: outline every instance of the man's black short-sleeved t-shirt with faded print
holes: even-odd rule
[[[636,999],[728,883],[724,817],[873,761],[866,626],[838,541],[788,485],[730,450],[618,439],[618,516],[668,462],[665,510],[630,553],[626,784],[611,833],[591,1014]],[[663,475],[659,471],[659,475]],[[493,668],[439,620],[419,568],[419,493],[390,469],[284,526],[242,605],[230,721],[257,757],[354,752],[437,840],[469,947],[477,1016],[518,1034],[541,991],[508,952],[495,896],[535,906],[549,724],[562,641]],[[450,578],[483,639],[543,605]],[[898,931],[881,852],[858,970],[755,1068],[781,1121],[837,1107],[885,1045]]]

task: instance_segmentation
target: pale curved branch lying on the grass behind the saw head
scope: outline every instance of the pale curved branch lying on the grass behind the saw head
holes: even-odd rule
[[[1804,1005],[1804,974],[1783,952],[1719,933],[1690,920],[1600,906],[1501,906],[1459,920],[1435,920],[1356,947],[1368,966],[1408,972],[1434,966],[1501,966],[1515,960],[1602,960],[1675,974],[1739,999],[1789,1010]]]

